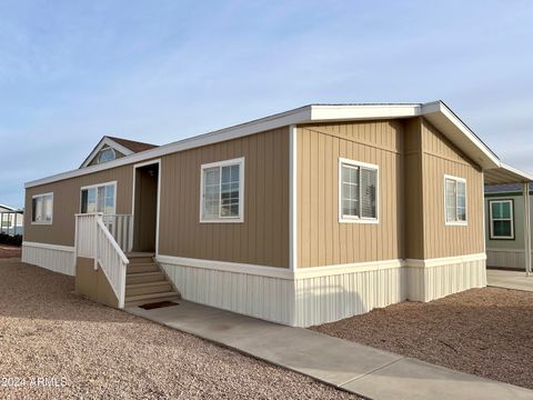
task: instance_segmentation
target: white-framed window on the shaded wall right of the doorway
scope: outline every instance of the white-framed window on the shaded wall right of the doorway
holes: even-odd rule
[[[244,158],[202,164],[200,222],[242,222]]]

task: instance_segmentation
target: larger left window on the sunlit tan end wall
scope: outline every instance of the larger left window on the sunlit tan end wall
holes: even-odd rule
[[[378,170],[339,159],[339,222],[378,223]]]

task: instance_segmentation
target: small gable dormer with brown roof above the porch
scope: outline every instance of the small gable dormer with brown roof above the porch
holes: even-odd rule
[[[80,168],[101,164],[122,157],[157,148],[155,144],[143,143],[134,140],[104,136]]]

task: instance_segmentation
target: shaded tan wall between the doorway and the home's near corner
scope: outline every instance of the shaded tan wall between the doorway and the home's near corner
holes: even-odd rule
[[[244,222],[200,223],[201,164],[244,157]],[[289,128],[164,156],[164,256],[289,267]]]

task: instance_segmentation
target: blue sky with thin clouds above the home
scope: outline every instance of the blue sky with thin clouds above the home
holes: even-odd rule
[[[444,100],[533,171],[532,1],[0,2],[0,203],[104,134],[167,143],[311,102]]]

